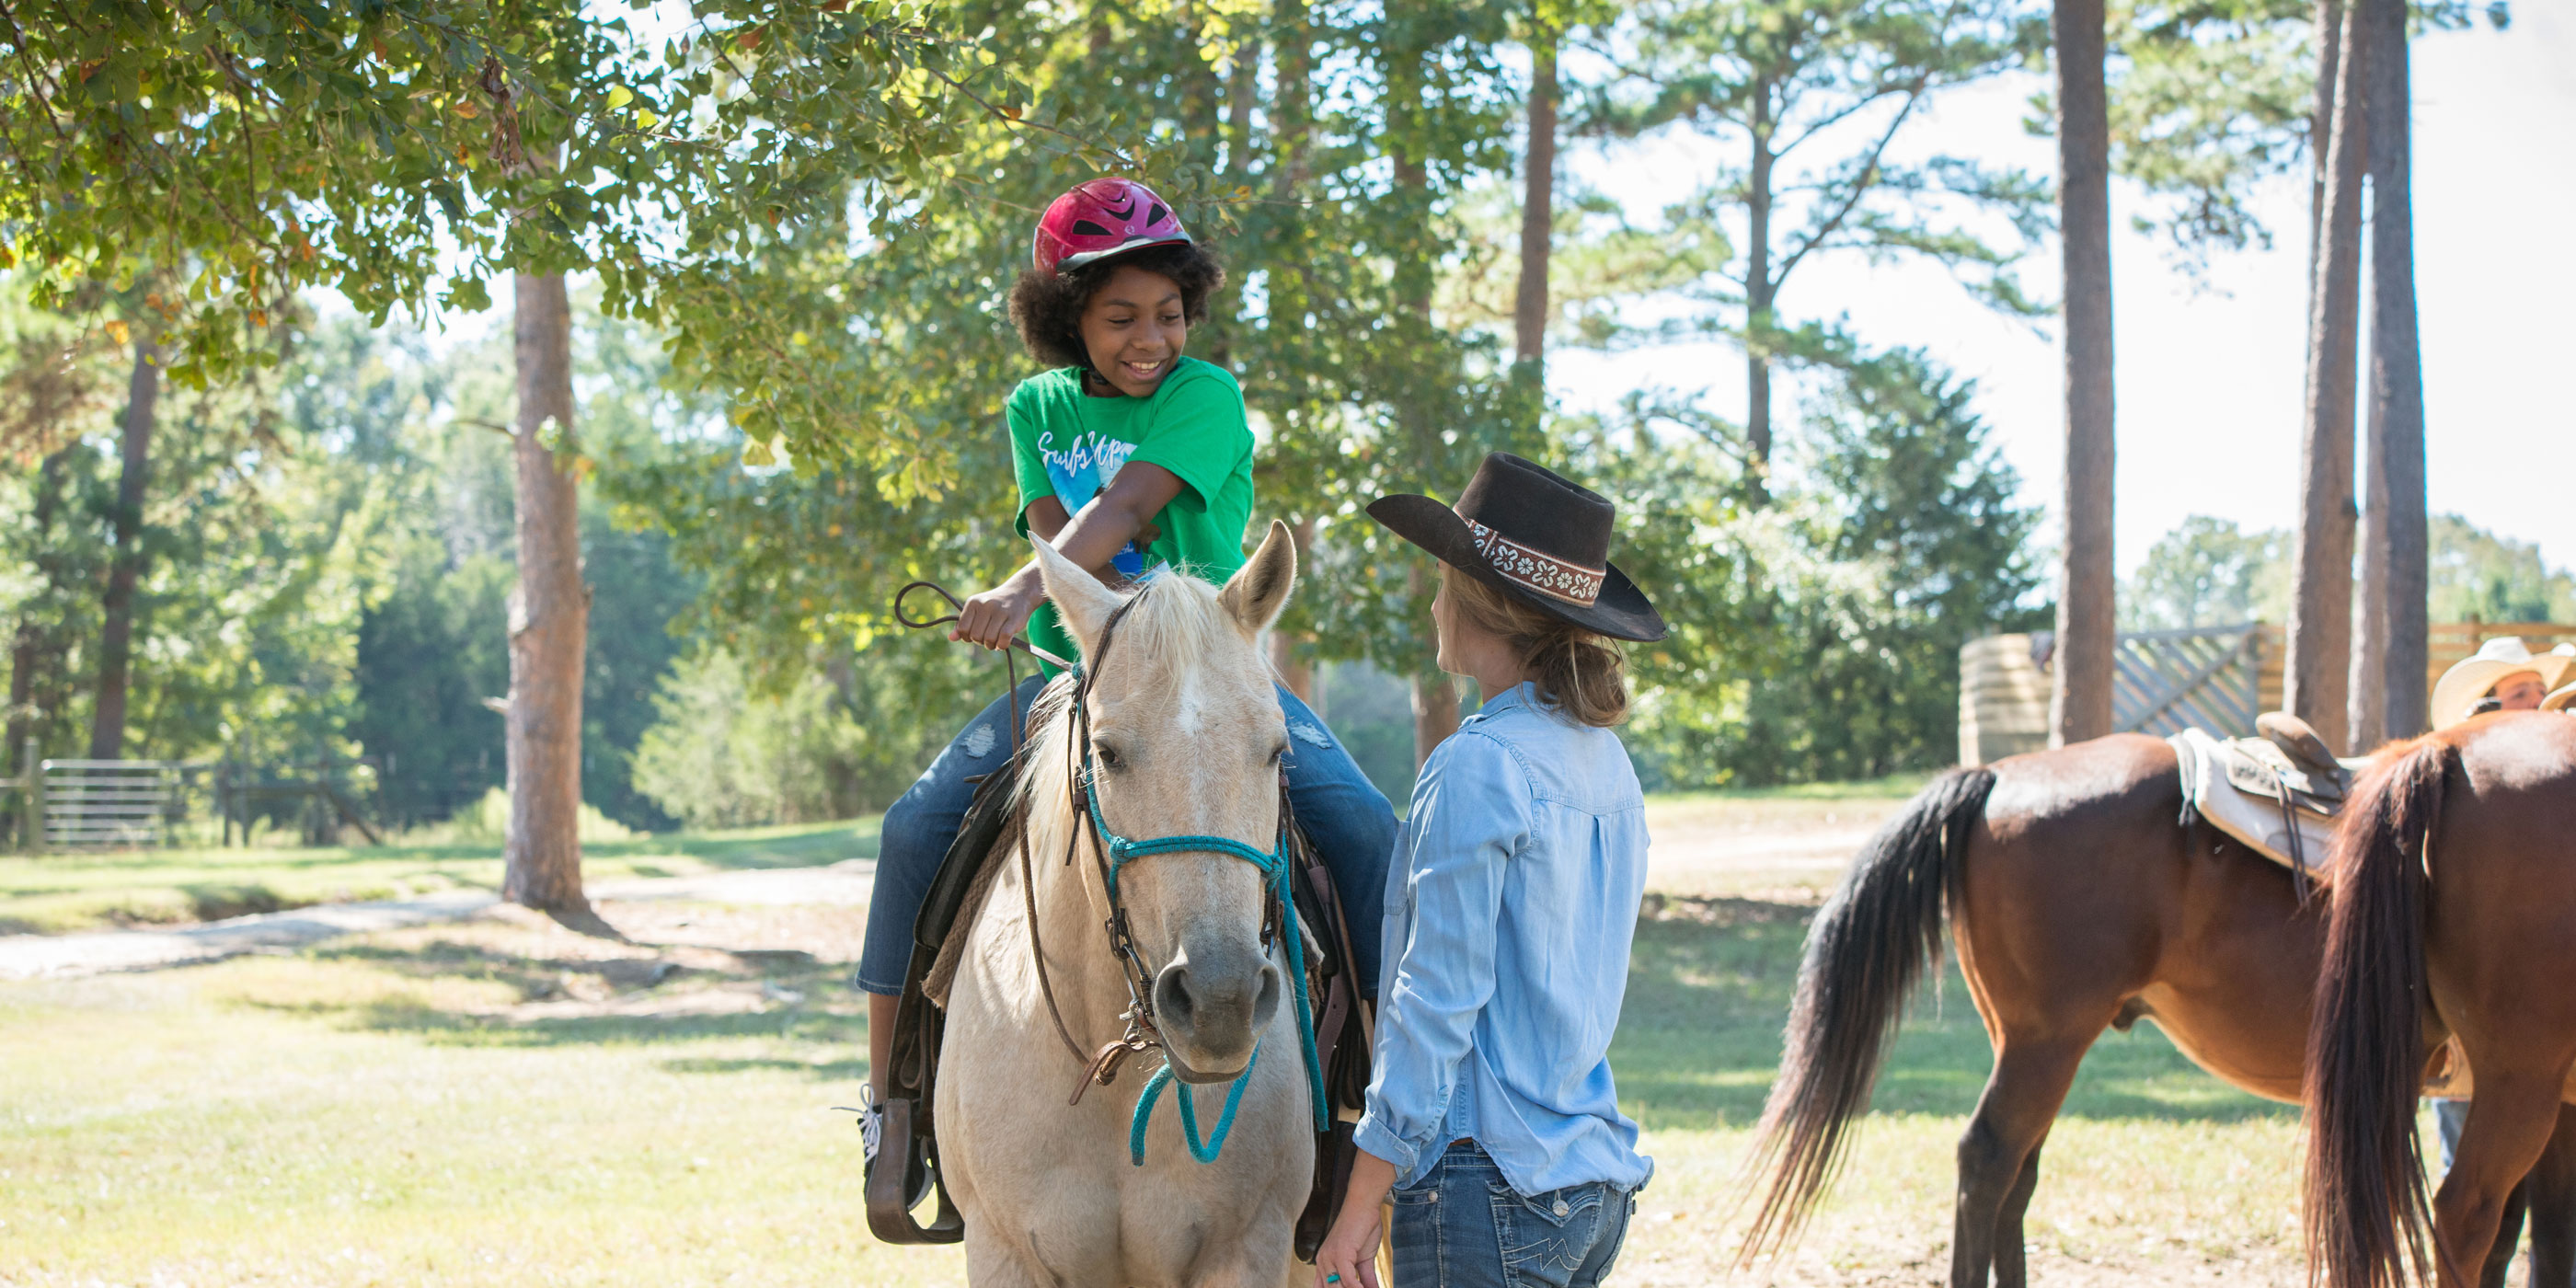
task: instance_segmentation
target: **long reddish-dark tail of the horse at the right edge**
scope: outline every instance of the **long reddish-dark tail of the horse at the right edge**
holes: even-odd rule
[[[2424,863],[2458,762],[2442,739],[2393,752],[2334,840],[2326,969],[2308,1025],[2308,1267],[2331,1288],[2427,1278]]]

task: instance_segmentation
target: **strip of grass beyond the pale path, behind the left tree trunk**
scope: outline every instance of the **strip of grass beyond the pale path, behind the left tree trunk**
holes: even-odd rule
[[[696,876],[876,855],[876,819],[582,845],[582,876]],[[0,855],[0,935],[165,925],[289,907],[500,889],[497,845]]]

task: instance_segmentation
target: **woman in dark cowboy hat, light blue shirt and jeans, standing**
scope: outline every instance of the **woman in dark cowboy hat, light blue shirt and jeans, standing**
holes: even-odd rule
[[[1646,889],[1646,799],[1610,732],[1613,639],[1664,618],[1610,567],[1610,502],[1494,453],[1455,507],[1381,497],[1370,518],[1440,559],[1440,670],[1484,708],[1432,750],[1386,871],[1383,1005],[1358,1162],[1316,1283],[1378,1288],[1381,1203],[1406,1288],[1610,1273],[1654,1164],[1618,1110],[1610,1030]]]

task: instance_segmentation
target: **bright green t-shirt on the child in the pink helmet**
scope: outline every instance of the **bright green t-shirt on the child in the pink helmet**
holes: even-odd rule
[[[1244,567],[1252,425],[1244,422],[1244,389],[1226,368],[1182,358],[1151,397],[1103,399],[1082,392],[1082,368],[1066,366],[1020,381],[1007,412],[1020,536],[1028,536],[1028,507],[1038,497],[1056,497],[1066,515],[1079,515],[1121,469],[1144,461],[1170,469],[1180,495],[1154,515],[1159,533],[1151,544],[1139,551],[1131,541],[1113,556],[1118,572],[1139,577],[1170,564],[1224,582]],[[1077,657],[1051,603],[1028,618],[1028,641]]]

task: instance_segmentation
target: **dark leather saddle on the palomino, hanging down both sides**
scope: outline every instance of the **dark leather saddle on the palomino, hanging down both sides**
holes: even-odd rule
[[[886,1118],[876,1172],[868,1177],[868,1229],[889,1244],[953,1244],[966,1236],[966,1218],[948,1198],[948,1177],[940,1170],[938,1146],[938,1069],[940,1036],[948,1015],[948,981],[956,974],[958,945],[963,943],[984,894],[999,871],[999,858],[1020,842],[1023,811],[1015,809],[1018,781],[1028,773],[1028,742],[1012,752],[1010,762],[976,786],[974,804],[958,840],[940,860],[940,873],[930,884],[920,917],[912,922],[912,963],[904,971],[904,994],[894,1012],[894,1056],[886,1069]],[[1332,873],[1306,842],[1288,811],[1288,793],[1280,791],[1280,817],[1291,837],[1291,891],[1303,925],[1316,930],[1321,953],[1309,961],[1309,989],[1314,1007],[1316,1059],[1324,1069],[1324,1118],[1329,1131],[1316,1136],[1314,1188],[1296,1221],[1296,1255],[1314,1260],[1332,1229],[1332,1216],[1342,1206],[1350,1185],[1350,1164],[1358,1151],[1352,1128],[1368,1095],[1368,1015],[1352,976],[1350,922],[1342,917],[1342,899],[1332,886]],[[1115,1061],[1103,1069],[1095,1061],[1097,1082],[1118,1077]],[[1092,1079],[1077,1082],[1077,1097]],[[912,1200],[930,1185],[938,1190],[938,1213],[927,1226],[912,1216]]]

